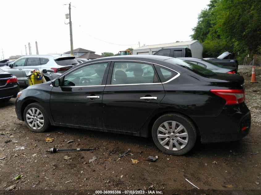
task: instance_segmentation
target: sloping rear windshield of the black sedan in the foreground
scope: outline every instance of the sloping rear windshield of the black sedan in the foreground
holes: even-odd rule
[[[181,59],[174,59],[174,58],[170,58],[170,59],[166,59],[167,62],[172,63],[172,64],[176,64],[180,67],[186,68],[192,72],[195,72],[196,74],[199,75],[203,75],[203,76],[209,76],[209,75],[214,75],[216,74],[215,72],[208,70],[204,67],[201,67],[199,65],[190,63],[190,62],[186,62],[183,61]]]

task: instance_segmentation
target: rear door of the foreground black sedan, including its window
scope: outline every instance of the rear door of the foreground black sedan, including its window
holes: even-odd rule
[[[103,92],[105,127],[138,132],[164,95],[163,85],[152,64],[112,62]]]

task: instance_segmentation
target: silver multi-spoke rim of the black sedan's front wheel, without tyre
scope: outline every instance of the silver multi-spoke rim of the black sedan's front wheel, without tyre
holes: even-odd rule
[[[44,126],[44,116],[37,108],[29,108],[26,112],[27,124],[33,129],[41,129]]]

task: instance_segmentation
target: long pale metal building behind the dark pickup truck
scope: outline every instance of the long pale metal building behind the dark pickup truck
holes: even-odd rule
[[[189,48],[192,53],[192,58],[202,59],[203,45],[198,40],[184,41],[177,43],[165,43],[158,45],[145,45],[133,50],[133,55],[153,55],[156,51],[168,47]]]

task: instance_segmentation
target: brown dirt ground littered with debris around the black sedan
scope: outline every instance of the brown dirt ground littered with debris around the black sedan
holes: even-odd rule
[[[250,134],[237,142],[197,141],[185,156],[166,155],[152,139],[135,136],[63,127],[33,133],[16,118],[15,98],[1,103],[0,159],[5,158],[0,160],[0,193],[93,194],[95,190],[121,190],[122,194],[135,194],[127,190],[140,189],[145,194],[261,194],[261,153],[250,154],[261,152],[261,70],[256,67],[259,83],[250,83],[251,67],[240,68],[245,78],[246,104],[252,114]],[[53,142],[46,143],[47,137],[54,138]],[[74,142],[67,143],[69,140]],[[97,149],[45,152],[52,147]],[[129,155],[119,159],[128,148]],[[70,158],[65,160],[65,155]],[[97,159],[89,163],[93,156]],[[142,160],[148,156],[159,158],[155,162]],[[134,164],[131,159],[139,162]],[[23,177],[15,180],[18,175]]]

